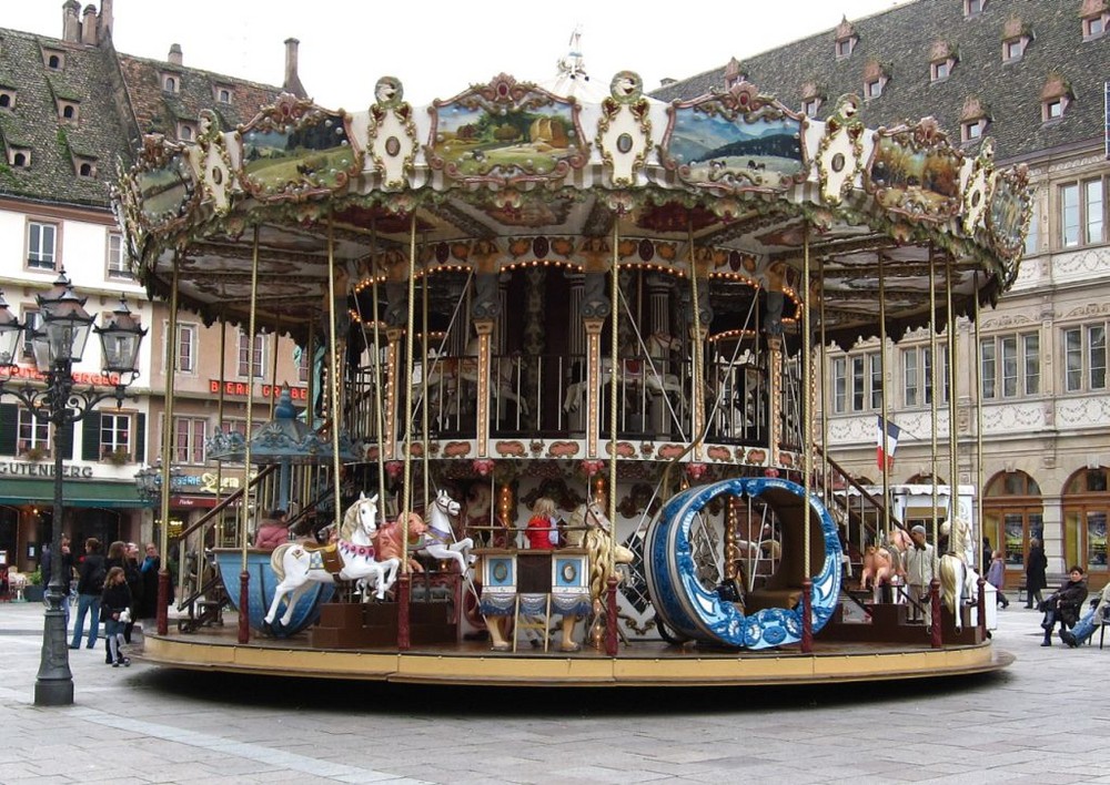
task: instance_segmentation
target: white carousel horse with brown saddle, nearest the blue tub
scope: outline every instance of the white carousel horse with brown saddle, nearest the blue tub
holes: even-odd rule
[[[293,618],[293,608],[306,591],[310,581],[316,583],[333,583],[335,581],[354,581],[374,579],[377,587],[376,597],[384,599],[397,578],[400,559],[377,561],[374,550],[374,534],[377,532],[377,495],[367,498],[360,495],[359,500],[343,516],[340,529],[340,540],[336,543],[336,554],[343,565],[340,572],[332,573],[324,568],[323,549],[310,550],[303,543],[287,542],[279,546],[270,558],[270,567],[278,575],[278,589],[265,621],[272,624],[278,615],[278,608],[283,598],[289,594],[289,603],[282,624],[289,624]]]

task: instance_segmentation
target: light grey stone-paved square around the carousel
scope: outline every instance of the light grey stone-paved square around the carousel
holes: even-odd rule
[[[999,612],[1001,674],[789,689],[497,690],[103,663],[32,700],[42,605],[0,604],[0,783],[1110,783],[1110,650]],[[1097,634],[1096,634],[1097,638]]]

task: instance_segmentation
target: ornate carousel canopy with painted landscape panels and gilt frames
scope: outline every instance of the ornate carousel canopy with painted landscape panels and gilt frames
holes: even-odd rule
[[[965,156],[929,118],[865,129],[858,106],[819,122],[746,82],[662,103],[620,72],[601,101],[502,74],[415,109],[386,77],[366,112],[283,95],[234,131],[205,114],[195,144],[148,136],[118,204],[152,294],[176,267],[186,308],[245,323],[253,288],[259,323],[296,336],[326,313],[330,269],[360,292],[406,281],[411,256],[462,281],[616,256],[799,300],[808,249],[846,345],[878,334],[880,279],[895,337],[928,323],[930,279],[957,313],[992,302],[1017,274],[1025,170],[996,170],[989,140]]]

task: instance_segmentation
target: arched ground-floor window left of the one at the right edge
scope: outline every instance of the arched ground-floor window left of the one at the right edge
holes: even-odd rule
[[[1037,480],[1023,471],[1005,471],[987,482],[982,536],[1002,551],[1008,571],[1025,572],[1029,541],[1045,542],[1045,502]]]

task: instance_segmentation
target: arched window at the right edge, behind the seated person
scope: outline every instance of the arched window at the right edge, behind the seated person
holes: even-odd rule
[[[1107,517],[1110,516],[1110,469],[1080,469],[1063,487],[1064,568],[1080,564],[1091,584],[1107,580]]]

